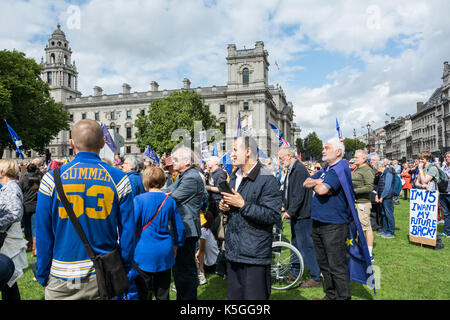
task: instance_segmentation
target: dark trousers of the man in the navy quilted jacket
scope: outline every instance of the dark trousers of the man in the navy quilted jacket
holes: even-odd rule
[[[270,265],[227,261],[228,300],[269,300]]]

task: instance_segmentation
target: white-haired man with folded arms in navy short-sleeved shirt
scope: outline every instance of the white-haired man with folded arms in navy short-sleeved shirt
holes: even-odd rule
[[[347,262],[346,238],[350,210],[344,190],[333,166],[343,160],[345,147],[338,139],[325,143],[322,160],[327,165],[307,178],[305,188],[313,189],[311,205],[312,238],[317,262],[325,284],[322,300],[350,299],[350,278]]]

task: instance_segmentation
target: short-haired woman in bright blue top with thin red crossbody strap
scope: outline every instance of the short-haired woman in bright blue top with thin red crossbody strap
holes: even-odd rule
[[[153,294],[157,300],[169,300],[170,271],[186,230],[175,201],[161,191],[166,182],[164,171],[150,167],[142,180],[148,192],[134,198],[136,288],[141,300],[151,300]]]

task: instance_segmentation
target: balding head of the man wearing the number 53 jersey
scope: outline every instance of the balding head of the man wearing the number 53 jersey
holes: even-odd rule
[[[78,121],[72,128],[71,142],[77,152],[99,153],[105,145],[102,127],[94,120]]]

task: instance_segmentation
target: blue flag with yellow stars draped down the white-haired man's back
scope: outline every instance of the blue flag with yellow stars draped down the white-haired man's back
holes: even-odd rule
[[[341,160],[332,165],[330,169],[336,172],[342,189],[344,190],[348,207],[352,213],[346,240],[350,281],[366,284],[373,288],[373,292],[376,294],[369,249],[367,248],[366,238],[361,223],[359,222],[358,211],[355,206],[350,167],[346,160]]]

